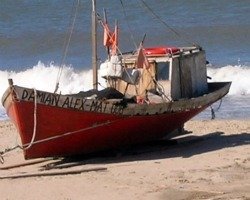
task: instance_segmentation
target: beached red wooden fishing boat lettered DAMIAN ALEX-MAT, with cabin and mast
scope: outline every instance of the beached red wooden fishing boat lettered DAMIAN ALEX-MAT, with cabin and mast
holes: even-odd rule
[[[171,137],[228,93],[230,82],[207,81],[200,46],[144,47],[141,42],[135,52],[121,53],[116,31],[111,33],[105,21],[102,25],[110,47],[99,70],[105,89],[97,88],[96,34],[93,90],[61,94],[17,86],[9,79],[2,104],[19,132],[25,159],[88,154]]]

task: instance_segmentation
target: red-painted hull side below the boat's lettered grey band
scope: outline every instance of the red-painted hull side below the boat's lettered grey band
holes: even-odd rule
[[[37,104],[35,140],[24,150],[24,157],[71,156],[157,140],[179,128],[227,91],[214,95],[216,98],[211,101],[202,97],[202,101],[209,103],[203,102],[204,105],[193,109],[150,115],[98,113]],[[33,136],[34,102],[13,99],[13,94],[9,93],[4,106],[20,133],[22,144],[27,146]]]

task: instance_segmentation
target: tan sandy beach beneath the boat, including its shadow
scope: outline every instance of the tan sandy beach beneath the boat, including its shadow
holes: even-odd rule
[[[173,142],[81,158],[68,168],[72,160],[38,159],[43,162],[0,169],[0,198],[250,199],[250,120],[190,121],[185,129],[192,133]],[[11,122],[0,122],[0,151],[18,142]],[[29,162],[22,150],[15,149],[5,154],[0,167]],[[56,166],[65,168],[48,170]],[[102,170],[69,174],[96,168]],[[65,175],[4,179],[65,171]]]

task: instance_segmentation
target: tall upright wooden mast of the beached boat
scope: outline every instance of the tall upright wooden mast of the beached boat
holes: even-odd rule
[[[98,89],[97,77],[97,20],[96,20],[96,0],[92,0],[92,69],[93,69],[93,89]]]

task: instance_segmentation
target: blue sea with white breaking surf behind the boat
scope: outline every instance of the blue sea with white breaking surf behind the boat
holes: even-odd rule
[[[210,62],[208,75],[212,80],[232,81],[222,104],[212,106],[216,118],[250,118],[249,1],[97,0],[100,16],[104,8],[111,28],[118,21],[122,52],[135,50],[144,34],[144,46],[202,46]],[[1,1],[0,96],[7,88],[8,78],[18,85],[53,91],[61,65],[62,92],[90,89],[90,17],[91,0]],[[63,59],[71,30],[72,39]],[[106,59],[101,26],[98,37],[101,62]],[[0,119],[6,118],[1,106]],[[210,110],[196,118],[210,119]]]

